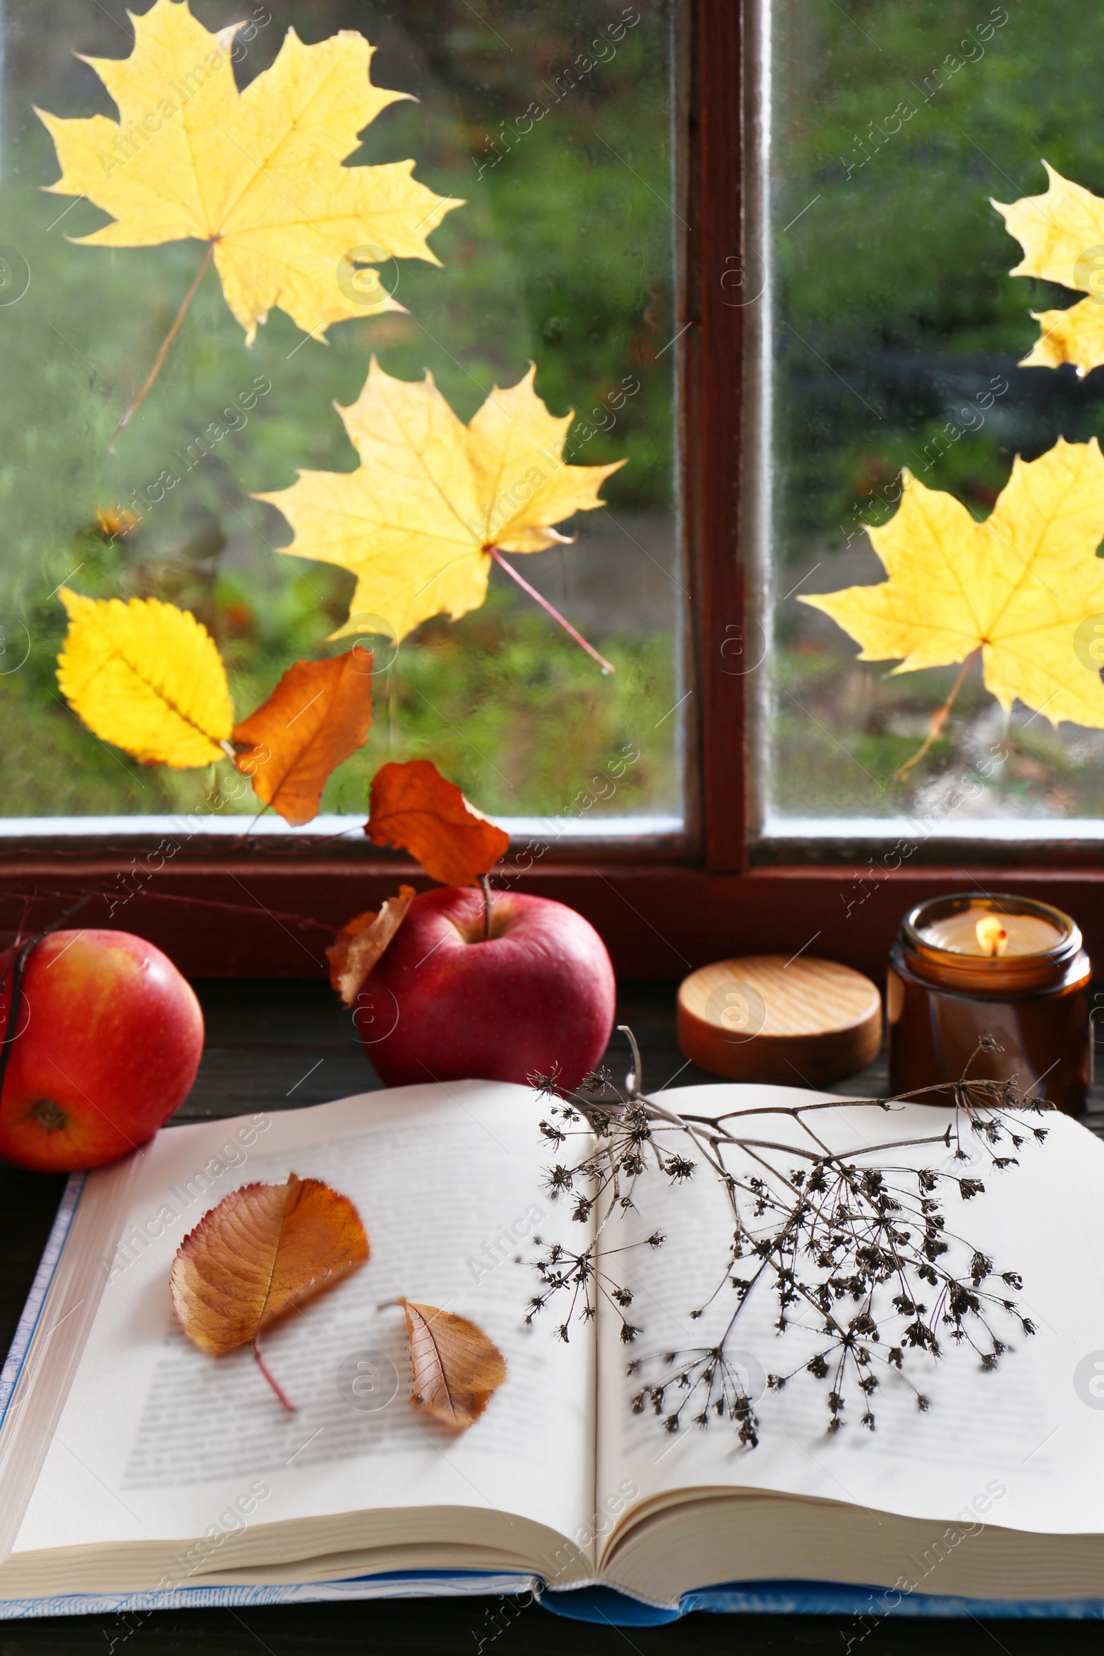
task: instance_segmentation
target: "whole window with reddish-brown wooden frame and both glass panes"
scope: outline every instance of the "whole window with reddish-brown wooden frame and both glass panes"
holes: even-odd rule
[[[106,434],[119,404],[101,376],[121,364],[119,389],[134,386],[194,260],[179,247],[104,255],[103,286],[86,286],[93,267],[73,260],[98,255],[63,245],[60,233],[70,224],[84,229],[81,214],[86,224],[96,215],[78,204],[48,229],[68,202],[36,194],[55,172],[26,118],[26,93],[66,113],[101,108],[70,48],[122,53],[126,22],[121,7],[116,22],[103,13],[94,22],[83,0],[63,0],[46,30],[26,0],[8,8],[3,166],[7,222],[17,225],[5,232],[8,253],[31,229],[36,240],[31,288],[0,306],[12,383],[26,388],[3,416],[5,651],[23,636],[23,619],[38,639],[26,666],[8,674],[13,689],[0,689],[12,734],[0,752],[8,901],[38,893],[56,907],[63,894],[122,891],[113,924],[151,936],[185,970],[323,969],[324,937],[313,927],[341,924],[396,884],[394,863],[356,831],[341,833],[341,813],[362,808],[362,778],[354,765],[338,773],[324,802],[338,821],[306,835],[119,833],[134,830],[142,811],[187,810],[189,797],[144,803],[137,783],[162,783],[101,750],[78,750],[73,724],[50,702],[58,614],[48,593],[84,548],[93,573],[103,556],[103,538],[73,502],[81,513],[124,502],[149,472],[142,445],[162,427],[185,454],[209,391],[220,399],[237,389],[227,364],[268,374],[271,359],[290,376],[270,374],[263,412],[223,444],[227,459],[204,457],[189,474],[202,485],[199,515],[184,513],[177,493],[179,517],[162,512],[164,538],[151,542],[164,553],[166,578],[180,583],[179,599],[204,616],[212,613],[204,604],[220,601],[212,571],[223,571],[227,603],[240,608],[228,609],[222,643],[235,697],[250,705],[296,652],[326,647],[333,611],[339,618],[348,603],[339,576],[328,585],[334,571],[308,566],[311,591],[300,566],[271,551],[286,532],[252,492],[286,485],[296,465],[353,465],[329,399],[356,394],[372,349],[394,374],[415,378],[430,364],[465,417],[487,386],[531,356],[554,411],[576,406],[586,416],[602,406],[606,386],[629,373],[641,383],[604,432],[601,414],[589,419],[596,429],[579,455],[629,457],[607,484],[609,512],[583,513],[573,525],[579,540],[563,555],[515,560],[616,656],[619,672],[612,682],[591,676],[593,664],[545,616],[495,583],[483,609],[455,628],[429,623],[382,674],[369,762],[389,742],[399,753],[434,744],[475,803],[515,820],[521,889],[581,909],[622,977],[679,977],[725,954],[801,949],[881,975],[900,912],[948,881],[991,884],[985,858],[998,861],[1003,889],[1071,909],[1089,949],[1104,951],[1101,876],[1084,836],[1101,818],[1096,772],[1078,747],[1086,734],[1039,732],[1043,720],[1013,714],[1000,735],[1008,758],[982,773],[985,815],[940,813],[924,790],[938,793],[957,765],[985,762],[975,749],[991,700],[970,682],[953,747],[937,749],[904,788],[890,787],[887,773],[917,745],[948,676],[892,681],[879,664],[856,664],[844,634],[798,604],[801,593],[877,576],[861,523],[886,510],[876,492],[910,447],[914,469],[932,459],[927,479],[983,515],[1016,449],[1039,454],[1058,431],[1074,439],[1092,429],[1092,376],[1078,384],[1068,371],[1015,366],[1034,336],[1028,310],[1053,300],[1041,283],[1008,278],[1015,243],[985,200],[1038,190],[1041,152],[1069,172],[1082,157],[1076,176],[1104,187],[1092,172],[1089,126],[1079,121],[1071,136],[1069,114],[1094,108],[1097,25],[1079,13],[1074,26],[1068,0],[1030,15],[1010,8],[1010,22],[983,41],[985,56],[965,61],[963,48],[965,66],[930,98],[914,89],[917,114],[887,132],[886,118],[910,96],[897,89],[902,76],[927,88],[929,63],[953,50],[945,36],[965,38],[988,3],[975,17],[965,0],[756,0],[743,8],[641,0],[629,8],[639,23],[626,26],[616,56],[561,96],[559,68],[624,10],[427,0],[273,13],[247,43],[242,76],[268,61],[268,41],[286,22],[305,38],[362,28],[379,45],[374,78],[422,98],[386,111],[362,157],[414,156],[417,176],[470,205],[434,233],[442,270],[402,262],[397,296],[409,316],[334,328],[329,349],[273,313],[247,353],[217,290],[204,290],[146,426],[136,422],[124,434],[132,447],[119,444],[109,462]],[[223,17],[214,3],[202,15]],[[106,33],[94,33],[101,25]],[[533,76],[545,93],[528,91]],[[535,96],[548,113],[521,132]],[[876,116],[886,142],[871,139]],[[991,177],[993,159],[1015,182]],[[74,286],[55,280],[61,268]],[[0,278],[10,280],[3,270]],[[36,311],[26,308],[31,295]],[[50,325],[88,358],[79,373]],[[93,339],[103,354],[88,349]],[[43,364],[60,388],[50,416]],[[1000,379],[990,386],[995,376],[1008,379],[1008,391]],[[278,384],[288,389],[275,401]],[[993,392],[985,424],[958,419],[963,434],[947,432],[943,449],[937,424],[943,431],[948,411],[970,399],[980,406],[983,388]],[[127,454],[134,474],[124,472]],[[154,528],[151,517],[147,540]],[[626,551],[629,537],[636,545]],[[137,535],[122,548],[139,568],[141,548]],[[149,560],[144,578],[161,578]],[[45,712],[55,722],[33,742],[26,722]],[[626,765],[609,795],[593,780],[601,775],[593,758],[626,742],[641,747],[641,760]],[[1096,742],[1089,734],[1092,752]],[[65,793],[76,768],[88,773],[79,806]],[[56,821],[74,813],[84,813],[83,838],[73,833],[81,821]],[[536,815],[540,825],[525,820]],[[33,816],[55,821],[33,838]],[[554,831],[550,816],[558,816]],[[233,828],[242,825],[237,815]],[[1058,836],[1061,856],[1046,843]],[[947,868],[965,858],[968,868]]]

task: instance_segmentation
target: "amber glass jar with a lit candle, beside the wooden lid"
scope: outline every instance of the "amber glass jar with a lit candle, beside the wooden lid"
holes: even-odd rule
[[[1066,1114],[1089,1085],[1089,957],[1061,909],[1030,898],[930,898],[889,956],[889,1083],[909,1093],[970,1075],[1015,1080]]]

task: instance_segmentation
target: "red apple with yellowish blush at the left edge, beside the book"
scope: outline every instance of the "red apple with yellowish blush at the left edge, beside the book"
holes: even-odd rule
[[[12,997],[0,956],[0,1033]],[[0,1158],[41,1172],[114,1161],[152,1138],[195,1080],[204,1013],[152,942],[56,931],[23,972],[0,1096]]]

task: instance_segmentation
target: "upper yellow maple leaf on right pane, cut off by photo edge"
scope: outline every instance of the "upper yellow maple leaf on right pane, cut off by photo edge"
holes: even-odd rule
[[[1041,333],[1021,368],[1073,363],[1079,374],[1104,363],[1104,200],[1044,161],[1049,187],[993,207],[1023,247],[1013,277],[1039,277],[1087,293],[1069,310],[1031,311]]]

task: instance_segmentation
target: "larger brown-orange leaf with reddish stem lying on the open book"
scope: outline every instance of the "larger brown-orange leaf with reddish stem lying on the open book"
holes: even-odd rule
[[[361,1216],[321,1179],[290,1172],[283,1184],[243,1184],[209,1209],[177,1249],[172,1310],[210,1356],[252,1340],[265,1379],[291,1409],[260,1355],[258,1335],[367,1257]]]

